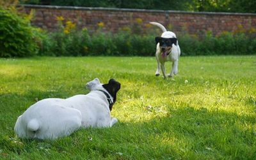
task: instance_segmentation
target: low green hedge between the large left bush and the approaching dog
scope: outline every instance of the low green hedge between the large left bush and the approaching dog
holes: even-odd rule
[[[47,50],[40,50],[40,55],[84,56],[116,55],[131,56],[154,55],[154,36],[140,36],[130,33],[95,33],[76,31],[70,34],[51,33],[44,41]],[[53,44],[53,45],[52,45]]]

